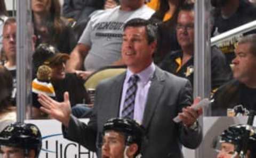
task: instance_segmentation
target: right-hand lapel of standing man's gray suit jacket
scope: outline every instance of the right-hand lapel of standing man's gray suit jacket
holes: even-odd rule
[[[158,105],[158,101],[162,95],[164,89],[164,74],[161,69],[156,67],[156,71],[151,80],[151,85],[148,91],[148,97],[146,102],[146,107],[143,115],[142,125],[147,129],[149,122],[151,121],[155,109]]]

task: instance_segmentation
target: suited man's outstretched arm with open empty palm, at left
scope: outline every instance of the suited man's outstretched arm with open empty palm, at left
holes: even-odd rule
[[[63,129],[65,138],[77,142],[91,151],[96,151],[96,118],[92,117],[89,124],[86,125],[72,116],[68,92],[64,93],[63,102],[57,102],[44,94],[39,94],[38,96],[38,101],[42,104],[40,109],[65,126]]]

